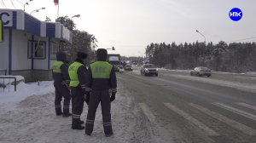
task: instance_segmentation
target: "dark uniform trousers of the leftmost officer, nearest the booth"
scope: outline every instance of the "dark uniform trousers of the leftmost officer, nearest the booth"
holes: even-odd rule
[[[55,112],[60,115],[61,112],[61,99],[64,98],[63,114],[69,113],[70,94],[67,87],[61,83],[54,83],[55,86]]]

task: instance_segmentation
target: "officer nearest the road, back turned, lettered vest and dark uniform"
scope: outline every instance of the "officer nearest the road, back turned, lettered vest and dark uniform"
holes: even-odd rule
[[[106,61],[107,55],[106,49],[98,49],[96,52],[97,61],[90,64],[89,70],[86,73],[86,100],[89,100],[85,123],[85,134],[87,135],[90,135],[93,131],[96,109],[100,102],[104,133],[106,136],[113,134],[110,102],[115,99],[117,82],[113,66]],[[111,97],[109,94],[110,90],[112,91]]]

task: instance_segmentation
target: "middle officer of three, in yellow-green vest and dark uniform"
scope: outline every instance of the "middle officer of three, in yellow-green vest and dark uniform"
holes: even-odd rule
[[[78,52],[77,59],[68,67],[72,97],[72,129],[84,129],[84,126],[81,126],[84,122],[80,120],[80,116],[83,112],[84,94],[86,93],[85,73],[87,69],[84,66],[86,57],[87,54],[84,52]]]

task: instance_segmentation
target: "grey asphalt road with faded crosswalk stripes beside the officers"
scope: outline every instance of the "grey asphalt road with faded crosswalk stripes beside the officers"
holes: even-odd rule
[[[256,78],[160,70],[118,73],[156,142],[256,142]],[[152,142],[154,142],[152,141]]]

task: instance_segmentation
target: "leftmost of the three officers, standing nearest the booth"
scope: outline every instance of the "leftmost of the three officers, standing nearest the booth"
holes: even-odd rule
[[[56,54],[57,60],[52,67],[55,86],[55,113],[56,116],[69,117],[70,94],[68,84],[70,82],[67,72],[67,55],[64,52]],[[64,97],[63,112],[61,111],[61,100]]]

